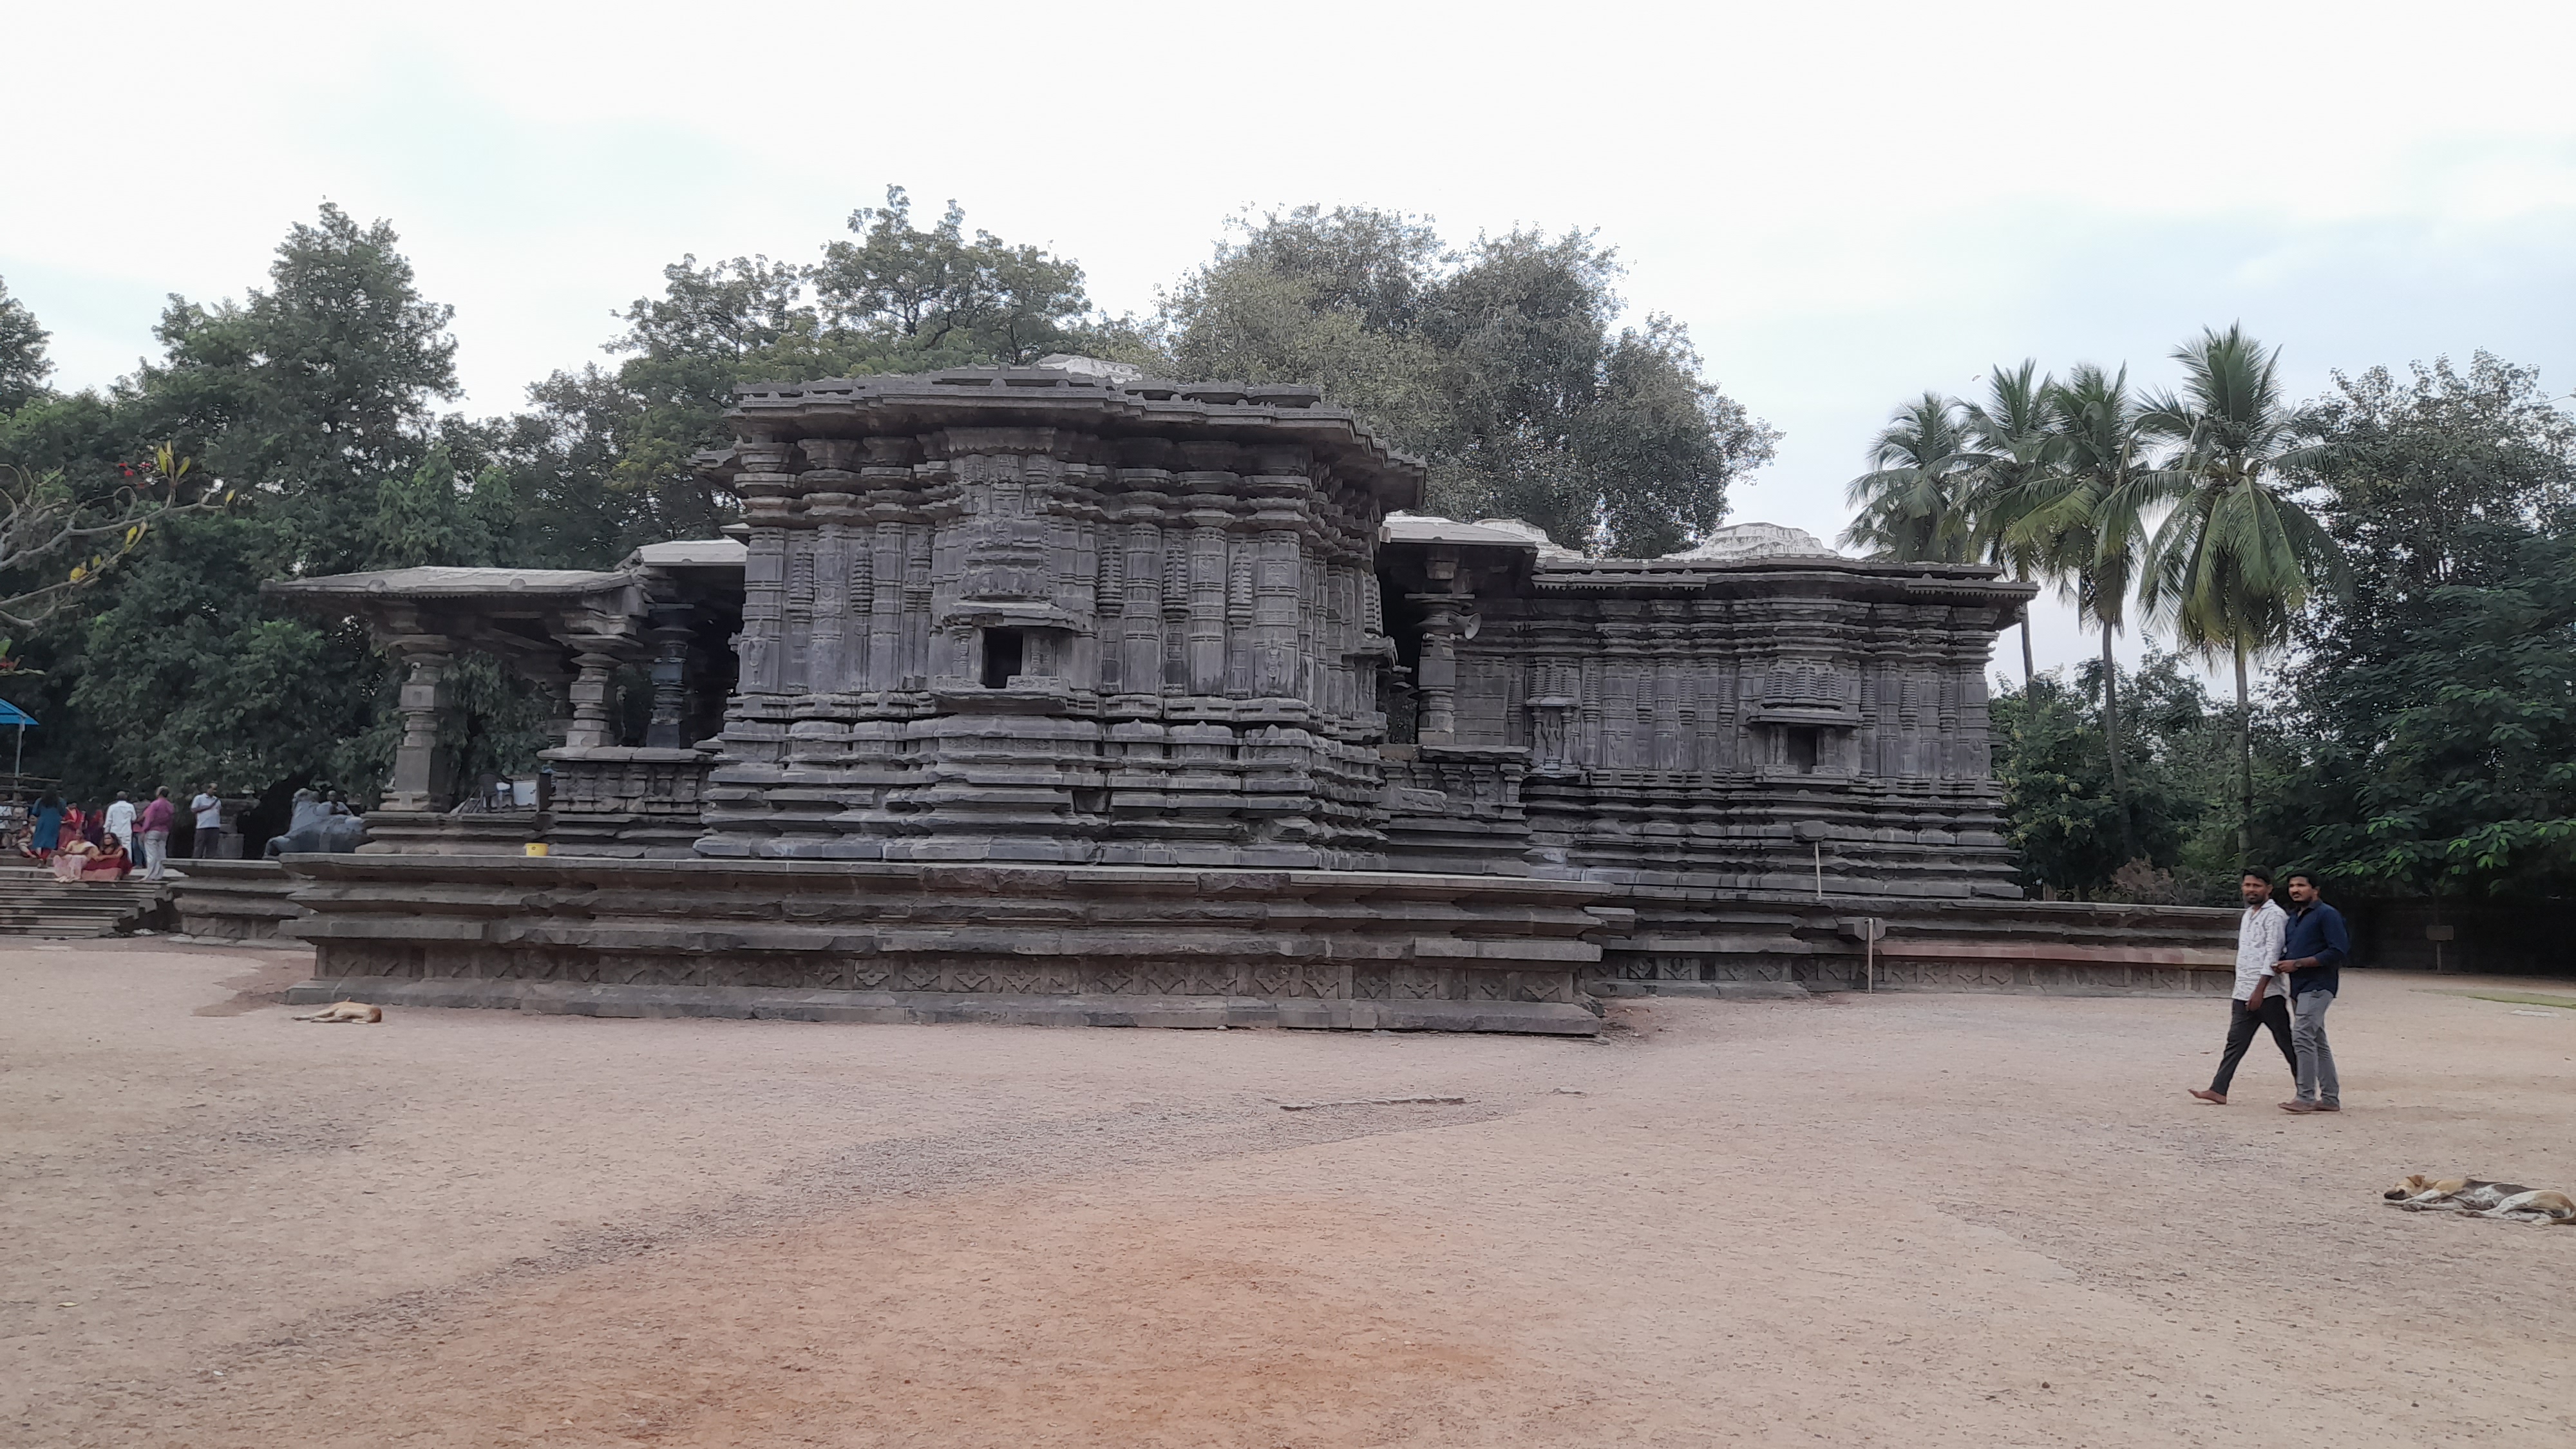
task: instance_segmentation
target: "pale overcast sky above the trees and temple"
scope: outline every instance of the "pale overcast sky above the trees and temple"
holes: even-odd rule
[[[806,260],[886,183],[1146,312],[1244,206],[1597,227],[1785,431],[1734,521],[1832,536],[1870,433],[1989,364],[2202,325],[2576,384],[2576,5],[18,5],[0,278],[57,384],[240,294],[322,199],[456,307],[474,413],[659,268]],[[2089,652],[2063,608],[2043,668]],[[2014,647],[1999,665],[2017,668]]]

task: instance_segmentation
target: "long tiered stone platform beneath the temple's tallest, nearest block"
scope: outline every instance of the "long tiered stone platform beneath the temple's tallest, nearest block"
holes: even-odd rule
[[[1582,1034],[1613,887],[1394,871],[286,856],[296,1000]]]

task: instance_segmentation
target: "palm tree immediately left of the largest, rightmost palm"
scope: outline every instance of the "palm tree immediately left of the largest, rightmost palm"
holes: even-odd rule
[[[2120,665],[2112,634],[2128,621],[2128,596],[2138,583],[2146,511],[2156,503],[2156,474],[2146,467],[2138,402],[2128,369],[2117,374],[2079,364],[2048,389],[2056,423],[2050,467],[2025,485],[2012,531],[2040,559],[2040,572],[2061,580],[2076,619],[2102,629],[2102,735],[2110,753],[2110,792],[2120,807],[2120,843],[2136,853],[2128,815],[2128,766],[2120,750]]]

